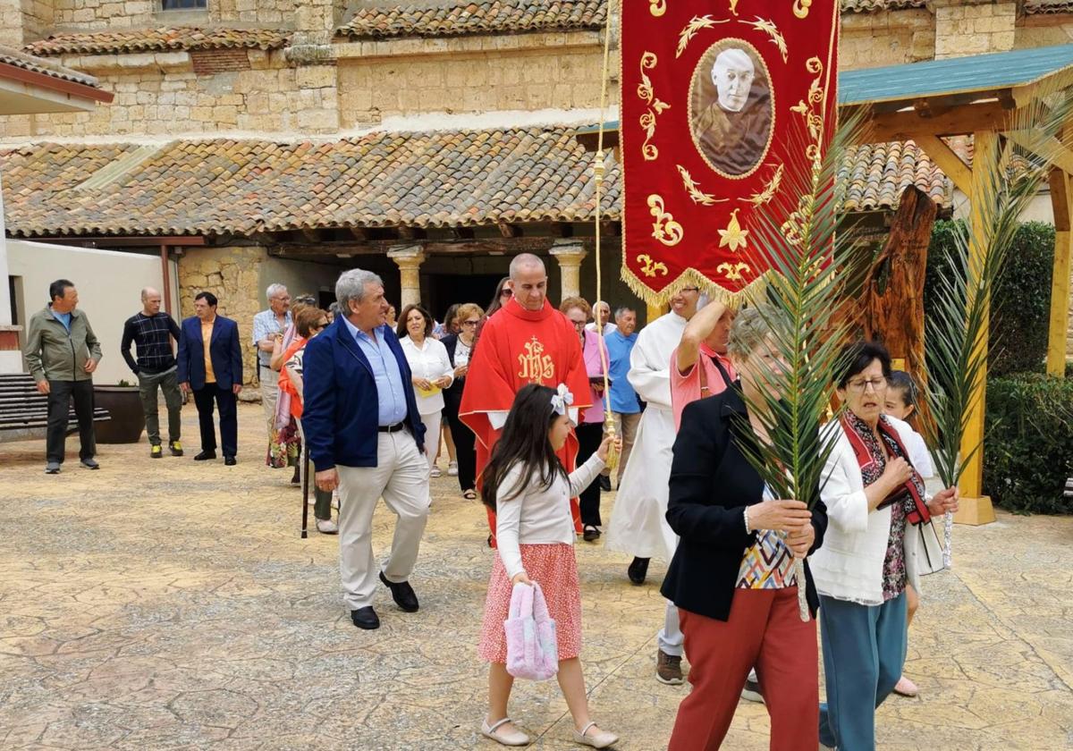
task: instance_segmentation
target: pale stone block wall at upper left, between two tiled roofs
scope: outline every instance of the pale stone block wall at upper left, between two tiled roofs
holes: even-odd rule
[[[216,50],[212,50],[214,53]],[[65,56],[64,64],[98,76],[116,94],[92,113],[0,118],[0,138],[30,135],[123,135],[256,131],[334,133],[339,129],[334,65],[288,65],[281,51],[241,50],[246,70],[226,70],[235,50]],[[229,62],[231,61],[231,62]]]

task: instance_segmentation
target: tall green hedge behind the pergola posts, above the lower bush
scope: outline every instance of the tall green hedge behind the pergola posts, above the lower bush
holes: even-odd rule
[[[950,273],[957,221],[936,222],[928,246],[924,281],[924,313],[935,305],[930,291],[936,279]],[[1026,222],[1017,230],[1006,267],[991,296],[991,376],[1042,372],[1047,353],[1050,277],[1055,257],[1055,227]]]

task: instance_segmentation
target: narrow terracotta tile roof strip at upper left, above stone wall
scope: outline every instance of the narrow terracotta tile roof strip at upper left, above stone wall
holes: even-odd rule
[[[162,27],[53,34],[48,39],[26,45],[26,50],[33,55],[105,55],[222,47],[277,49],[284,46],[289,39],[290,32],[274,29]]]

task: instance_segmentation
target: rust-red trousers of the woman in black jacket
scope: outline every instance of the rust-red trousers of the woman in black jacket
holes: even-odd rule
[[[815,621],[802,621],[796,587],[735,590],[725,622],[681,608],[678,617],[693,690],[678,707],[668,751],[718,749],[753,666],[771,716],[771,751],[815,751]]]

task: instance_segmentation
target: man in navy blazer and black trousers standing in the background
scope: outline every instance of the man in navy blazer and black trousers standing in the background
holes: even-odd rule
[[[194,461],[216,458],[216,428],[212,403],[220,410],[220,443],[223,463],[235,463],[238,454],[238,416],[236,401],[242,391],[242,350],[238,344],[238,324],[216,314],[217,299],[211,292],[194,297],[194,313],[182,321],[179,337],[178,380],[182,393],[193,392],[201,424],[202,451]]]

